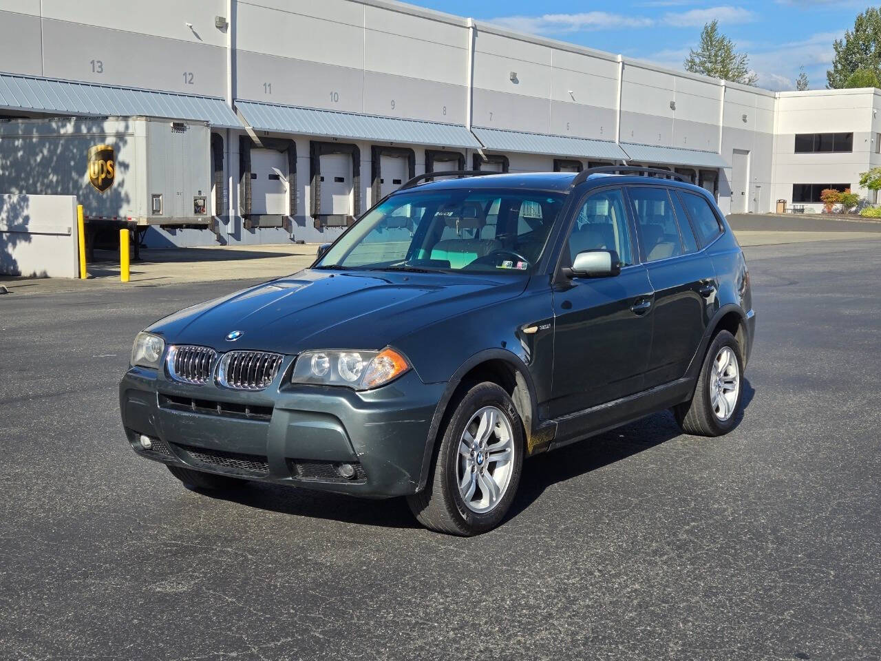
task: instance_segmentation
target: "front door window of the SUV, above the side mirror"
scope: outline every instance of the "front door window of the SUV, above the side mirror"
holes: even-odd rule
[[[570,264],[583,250],[615,250],[622,266],[633,264],[621,189],[601,190],[584,201],[569,234],[568,249]]]

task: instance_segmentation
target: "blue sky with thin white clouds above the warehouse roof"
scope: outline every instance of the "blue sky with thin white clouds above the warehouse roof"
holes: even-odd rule
[[[833,40],[854,26],[865,0],[769,0],[768,2],[563,2],[562,0],[410,0],[412,4],[470,16],[519,32],[622,53],[672,69],[682,69],[688,50],[707,21],[719,19],[722,33],[750,56],[759,85],[793,89],[799,67],[811,89],[825,87]]]

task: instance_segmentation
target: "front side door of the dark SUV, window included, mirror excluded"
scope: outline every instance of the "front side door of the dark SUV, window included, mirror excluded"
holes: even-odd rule
[[[609,278],[555,286],[552,400],[556,418],[642,389],[652,332],[652,287],[636,264],[622,189],[589,194],[563,246],[562,265],[582,250],[616,250],[622,268]]]

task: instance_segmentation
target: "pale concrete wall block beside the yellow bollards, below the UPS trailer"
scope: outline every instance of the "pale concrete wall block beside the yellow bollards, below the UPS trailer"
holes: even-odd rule
[[[0,274],[78,278],[77,198],[0,195]]]

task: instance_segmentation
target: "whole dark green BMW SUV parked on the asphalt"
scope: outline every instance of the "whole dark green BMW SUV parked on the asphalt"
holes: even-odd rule
[[[191,487],[403,495],[472,535],[527,457],[665,408],[689,434],[734,427],[755,316],[705,190],[631,167],[452,174],[408,182],[310,268],[139,333],[131,447]]]

